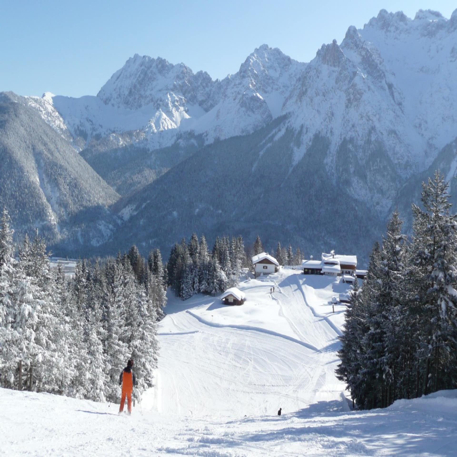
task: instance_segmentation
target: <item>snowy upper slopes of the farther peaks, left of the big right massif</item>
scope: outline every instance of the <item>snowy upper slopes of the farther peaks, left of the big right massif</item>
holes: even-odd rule
[[[86,141],[111,133],[138,131],[155,149],[175,140],[173,132],[205,133],[207,141],[251,133],[279,116],[282,103],[306,64],[262,45],[239,72],[213,81],[184,64],[136,54],[112,75],[96,97],[43,96],[40,112],[57,110],[74,137]],[[54,128],[60,119],[43,118]],[[156,138],[159,133],[161,137]]]

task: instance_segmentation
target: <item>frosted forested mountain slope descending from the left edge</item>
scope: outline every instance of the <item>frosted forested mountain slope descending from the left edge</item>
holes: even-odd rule
[[[118,195],[22,97],[0,94],[0,206],[19,233],[58,240]],[[102,210],[102,211],[101,211]],[[85,213],[84,216],[81,213]]]

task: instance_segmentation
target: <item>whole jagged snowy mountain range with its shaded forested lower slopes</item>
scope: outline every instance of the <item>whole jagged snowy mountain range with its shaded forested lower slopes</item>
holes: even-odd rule
[[[134,241],[129,224],[138,223],[149,227],[135,241],[145,247],[172,242],[162,231],[182,236],[191,229],[224,229],[250,236],[270,223],[268,208],[281,204],[276,217],[286,236],[313,250],[316,243],[282,209],[294,212],[300,204],[298,216],[313,227],[318,223],[320,239],[331,232],[329,242],[365,249],[392,207],[412,196],[419,178],[436,165],[447,167],[449,179],[455,174],[456,61],[457,10],[449,19],[436,11],[420,10],[410,19],[382,10],[363,29],[349,27],[340,44],[322,45],[307,64],[262,45],[237,73],[212,80],[184,64],[136,54],[97,96],[45,93],[18,100],[121,194],[109,208],[119,229],[106,235],[116,246],[116,232],[122,240],[132,234],[127,238]],[[222,154],[216,167],[215,154]],[[189,191],[175,192],[190,184],[191,164],[196,171]],[[224,170],[238,172],[248,184],[231,175],[231,190],[218,192],[215,201],[204,190],[217,192]],[[170,190],[174,197],[166,201]],[[298,202],[303,194],[313,199]],[[292,196],[294,202],[281,203]],[[343,241],[322,226],[323,203],[331,219],[341,201],[362,218],[351,220],[352,230],[366,215],[371,221],[362,245],[358,235]],[[258,208],[263,211],[256,213]],[[191,221],[180,219],[189,211]],[[169,223],[160,230],[158,213]],[[281,239],[281,233],[265,234],[271,243]]]

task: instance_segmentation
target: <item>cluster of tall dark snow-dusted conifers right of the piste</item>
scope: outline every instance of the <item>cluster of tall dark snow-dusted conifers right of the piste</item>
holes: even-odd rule
[[[394,212],[355,285],[336,373],[360,409],[457,388],[457,217],[436,172],[413,204],[413,235]]]

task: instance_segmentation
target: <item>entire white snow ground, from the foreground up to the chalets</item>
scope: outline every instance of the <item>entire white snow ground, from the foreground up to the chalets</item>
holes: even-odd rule
[[[155,387],[131,417],[0,389],[0,455],[455,455],[457,391],[350,410],[334,375],[339,278],[283,269],[239,288],[240,307],[170,296]]]

